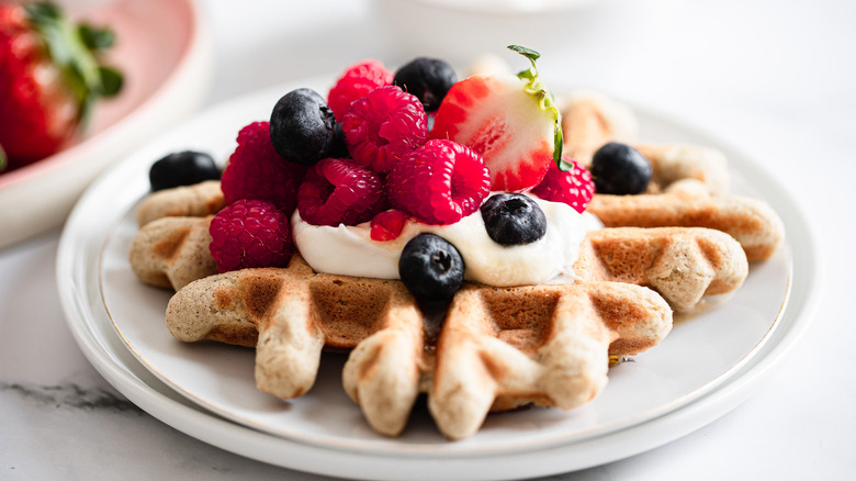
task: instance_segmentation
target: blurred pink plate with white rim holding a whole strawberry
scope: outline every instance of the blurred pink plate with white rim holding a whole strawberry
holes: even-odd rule
[[[69,15],[110,25],[110,64],[122,92],[100,102],[86,135],[59,153],[0,175],[0,247],[63,224],[87,186],[153,136],[183,120],[207,91],[211,40],[193,0],[116,0]]]

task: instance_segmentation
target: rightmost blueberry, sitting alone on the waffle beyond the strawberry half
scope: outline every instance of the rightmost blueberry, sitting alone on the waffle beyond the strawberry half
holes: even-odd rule
[[[610,142],[592,158],[595,192],[617,195],[644,192],[651,181],[651,161],[635,148]]]

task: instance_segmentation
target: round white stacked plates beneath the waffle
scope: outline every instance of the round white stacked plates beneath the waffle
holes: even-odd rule
[[[125,260],[135,232],[131,213],[147,191],[151,160],[183,148],[224,158],[238,128],[266,119],[280,94],[328,85],[315,79],[282,86],[203,113],[102,177],[67,223],[57,276],[76,339],[123,394],[182,432],[244,456],[320,474],[545,476],[654,448],[724,414],[748,395],[809,323],[818,275],[803,217],[763,170],[727,150],[734,190],[768,200],[784,217],[788,242],[774,258],[752,266],[746,283],[725,302],[678,323],[664,343],[635,362],[613,368],[609,385],[592,403],[571,412],[532,409],[491,415],[475,436],[449,443],[424,409],[416,410],[401,438],[375,435],[341,390],[341,356],[327,356],[318,383],[302,399],[284,402],[262,394],[252,380],[252,350],[185,345],[170,337],[162,318],[169,294],[139,283]],[[641,114],[641,124],[650,141],[722,147],[657,115]]]

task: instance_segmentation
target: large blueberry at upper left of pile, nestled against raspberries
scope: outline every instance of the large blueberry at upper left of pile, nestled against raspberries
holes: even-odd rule
[[[270,115],[273,148],[286,160],[305,166],[329,157],[336,119],[318,92],[296,89],[282,96]]]

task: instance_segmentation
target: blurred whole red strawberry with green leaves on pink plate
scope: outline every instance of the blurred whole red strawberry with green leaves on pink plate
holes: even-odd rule
[[[75,25],[53,3],[0,4],[0,148],[10,168],[71,141],[122,76],[99,64],[113,34]]]

